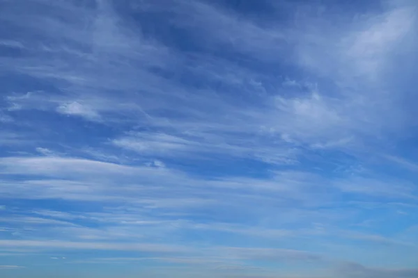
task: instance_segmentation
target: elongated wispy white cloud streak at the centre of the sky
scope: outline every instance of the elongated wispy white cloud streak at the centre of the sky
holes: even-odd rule
[[[289,149],[280,142],[265,140],[265,145],[256,145],[256,133],[247,133],[248,138],[235,140],[235,134],[209,131],[183,132],[176,135],[167,133],[130,133],[113,140],[114,145],[131,149],[142,156],[183,157],[210,159],[207,154],[232,158],[251,158],[268,163],[295,163],[295,149]],[[239,133],[239,132],[237,132]],[[238,134],[236,134],[238,136]]]

